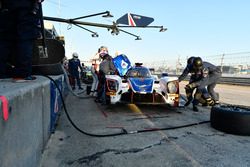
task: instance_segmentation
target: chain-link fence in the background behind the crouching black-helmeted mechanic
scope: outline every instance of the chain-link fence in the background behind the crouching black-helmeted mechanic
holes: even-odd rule
[[[157,72],[181,74],[186,67],[187,56],[173,56],[170,59],[144,62],[144,65],[154,68]],[[223,76],[250,77],[250,52],[222,53],[201,57],[221,68]]]

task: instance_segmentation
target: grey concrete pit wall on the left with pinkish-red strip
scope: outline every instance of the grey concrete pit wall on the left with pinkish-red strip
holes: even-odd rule
[[[62,81],[62,76],[53,77]],[[0,166],[34,167],[39,164],[51,133],[51,81],[13,83],[0,80],[0,96],[9,102],[9,118],[3,120],[0,103]]]

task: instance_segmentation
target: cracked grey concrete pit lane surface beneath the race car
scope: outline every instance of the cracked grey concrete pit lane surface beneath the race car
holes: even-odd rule
[[[182,91],[183,84],[181,84]],[[221,100],[231,100],[236,104],[245,101],[250,106],[250,95],[247,95],[249,87],[218,85],[217,88],[219,86],[221,86],[219,91],[222,91]],[[238,91],[246,93],[241,97],[237,95]],[[68,96],[66,105],[78,127],[94,134],[117,133],[122,129],[132,132],[179,126],[207,121],[210,114],[210,108],[207,107],[199,107],[201,111],[198,113],[193,112],[191,107],[178,109],[150,105],[107,107],[95,103],[92,98],[78,99],[71,95]],[[209,123],[168,131],[106,138],[90,137],[76,131],[62,112],[57,130],[44,151],[41,166],[244,167],[250,166],[249,149],[248,136],[226,134],[211,128]]]

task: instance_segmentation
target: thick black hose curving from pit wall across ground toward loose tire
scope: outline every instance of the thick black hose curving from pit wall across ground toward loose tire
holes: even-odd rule
[[[58,86],[58,84],[55,82],[55,80],[53,78],[51,78],[50,76],[44,75],[44,77],[47,77],[48,79],[50,79],[56,86],[56,88],[59,91],[61,100],[62,100],[62,105],[64,108],[64,111],[66,113],[66,116],[69,120],[69,122],[71,123],[71,125],[80,133],[85,134],[87,136],[91,136],[91,137],[113,137],[113,136],[121,136],[121,135],[127,135],[127,134],[136,134],[136,133],[145,133],[145,132],[154,132],[154,131],[162,131],[162,130],[174,130],[174,129],[180,129],[180,128],[186,128],[186,127],[191,127],[191,126],[195,126],[195,125],[201,125],[201,124],[206,124],[209,123],[210,121],[201,121],[201,122],[197,122],[197,123],[190,123],[190,124],[185,124],[185,125],[180,125],[180,126],[174,126],[174,127],[165,127],[165,128],[152,128],[152,129],[143,129],[143,130],[136,130],[136,131],[127,131],[126,129],[122,129],[121,132],[118,133],[110,133],[110,134],[93,134],[93,133],[88,133],[86,131],[83,131],[82,129],[80,129],[71,119],[68,110],[66,108],[66,104],[64,102],[64,98],[62,95],[62,92]],[[67,78],[67,77],[66,77]]]

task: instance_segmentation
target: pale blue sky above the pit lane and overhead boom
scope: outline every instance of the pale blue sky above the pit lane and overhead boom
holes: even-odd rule
[[[112,24],[126,13],[154,18],[150,25],[163,25],[159,29],[124,29],[142,38],[120,33],[111,35],[107,29],[85,26],[99,34],[73,26],[54,23],[58,33],[65,36],[66,54],[71,58],[77,52],[81,60],[89,60],[98,47],[105,45],[109,53],[126,54],[132,62],[153,62],[201,56],[250,52],[250,1],[249,0],[45,0],[45,16],[75,18],[110,11],[113,18],[101,16],[82,19],[87,22]],[[245,55],[249,61],[250,54]],[[240,55],[239,55],[240,57]],[[234,61],[234,60],[232,60]],[[245,60],[244,60],[245,61]]]

